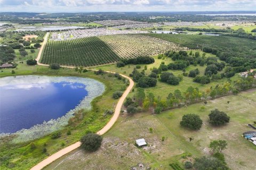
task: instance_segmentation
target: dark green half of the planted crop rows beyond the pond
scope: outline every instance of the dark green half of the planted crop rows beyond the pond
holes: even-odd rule
[[[93,66],[114,63],[120,58],[98,37],[64,41],[49,41],[41,63],[75,66]]]

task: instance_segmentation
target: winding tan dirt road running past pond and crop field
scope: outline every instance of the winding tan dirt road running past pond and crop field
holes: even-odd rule
[[[39,60],[40,60],[41,54],[43,52],[43,48],[44,48],[44,46],[47,42],[48,36],[49,36],[49,32],[46,33],[46,36],[44,37],[44,42],[43,42],[42,47],[40,48],[38,56],[36,58],[36,61],[37,61],[38,65],[49,66],[47,64],[39,63]],[[71,66],[62,66],[62,67],[74,68],[74,67],[71,67]],[[111,72],[111,71],[105,71],[105,72],[115,73],[115,72]],[[124,103],[124,100],[125,100],[126,96],[129,94],[129,92],[132,90],[132,87],[134,86],[134,82],[131,78],[129,78],[126,75],[123,75],[123,74],[120,74],[120,75],[130,81],[129,87],[127,87],[127,89],[124,91],[124,94],[118,100],[118,103],[117,103],[116,108],[115,108],[115,113],[111,117],[110,121],[100,131],[97,132],[97,134],[99,134],[99,135],[102,135],[102,134],[106,133],[115,124],[115,122],[116,122],[116,120],[117,120],[117,118],[118,118],[118,116],[121,112],[121,108],[122,108],[122,105]],[[42,162],[38,163],[37,165],[35,165],[30,170],[43,169],[45,166],[54,162],[54,160],[57,160],[58,158],[62,157],[63,155],[68,154],[70,151],[73,151],[74,149],[78,148],[80,145],[81,145],[81,142],[76,142],[73,145],[70,145],[66,148],[63,148],[60,151],[56,152],[55,154],[53,154],[53,155],[47,157],[46,159],[44,159]]]

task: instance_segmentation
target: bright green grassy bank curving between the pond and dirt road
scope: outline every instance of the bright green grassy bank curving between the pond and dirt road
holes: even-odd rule
[[[116,77],[109,74],[95,75],[93,72],[78,73],[74,69],[62,68],[58,71],[50,70],[45,66],[27,66],[19,64],[15,74],[11,74],[11,69],[3,69],[0,77],[15,76],[15,75],[49,75],[49,76],[71,76],[71,77],[86,77],[93,78],[105,84],[106,90],[102,96],[95,98],[92,101],[92,110],[86,112],[84,118],[79,120],[75,125],[67,125],[61,130],[61,137],[51,139],[51,135],[46,135],[43,138],[29,141],[26,143],[10,143],[11,139],[1,138],[0,140],[0,169],[29,169],[35,164],[41,162],[44,158],[54,154],[58,150],[69,146],[78,141],[87,131],[97,132],[111,118],[111,115],[103,116],[106,109],[114,109],[117,103],[116,99],[112,98],[113,92],[126,88],[123,80],[118,80]],[[118,84],[118,86],[117,86]],[[71,131],[71,135],[67,135],[67,131]],[[30,149],[30,142],[36,146],[35,149]],[[46,148],[46,153],[43,153],[43,148]]]

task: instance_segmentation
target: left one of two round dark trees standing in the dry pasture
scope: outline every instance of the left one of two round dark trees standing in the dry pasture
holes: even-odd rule
[[[196,114],[186,114],[183,115],[182,121],[180,122],[181,126],[192,130],[199,130],[203,124],[201,118]]]

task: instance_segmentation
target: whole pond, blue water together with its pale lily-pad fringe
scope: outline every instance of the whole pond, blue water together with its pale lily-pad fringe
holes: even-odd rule
[[[50,126],[56,130],[67,124],[76,109],[90,108],[92,99],[104,90],[102,83],[88,78],[35,75],[1,78],[0,133],[40,131],[43,125],[47,131]]]

